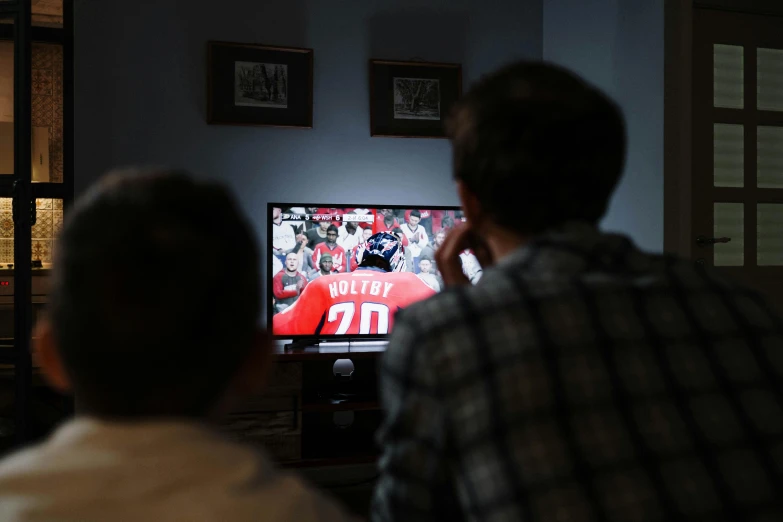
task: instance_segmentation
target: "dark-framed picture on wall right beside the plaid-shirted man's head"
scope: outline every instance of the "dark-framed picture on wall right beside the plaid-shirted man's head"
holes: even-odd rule
[[[445,138],[461,95],[459,64],[370,60],[370,135]]]

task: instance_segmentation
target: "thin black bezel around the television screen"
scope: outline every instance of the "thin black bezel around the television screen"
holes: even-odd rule
[[[264,255],[266,257],[267,261],[267,267],[266,267],[266,288],[265,288],[265,294],[266,294],[266,321],[267,321],[267,329],[269,330],[269,333],[272,335],[272,338],[275,341],[281,341],[281,340],[292,340],[292,341],[302,341],[302,340],[312,340],[313,342],[319,342],[319,341],[350,341],[350,340],[356,340],[356,341],[382,341],[389,338],[389,335],[391,334],[356,334],[356,335],[279,335],[274,332],[273,324],[272,324],[272,265],[271,265],[271,253],[272,253],[272,209],[273,208],[291,208],[291,207],[319,207],[319,208],[369,208],[369,209],[379,209],[379,208],[391,208],[394,210],[399,209],[417,209],[417,208],[423,208],[426,210],[457,210],[462,211],[462,207],[458,205],[367,205],[359,203],[359,204],[353,204],[353,203],[279,203],[279,202],[270,202],[267,203],[266,206],[266,219],[267,219],[267,225],[266,225],[266,250],[264,251]]]

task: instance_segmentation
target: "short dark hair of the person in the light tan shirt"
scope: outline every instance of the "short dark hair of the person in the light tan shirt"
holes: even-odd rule
[[[67,214],[49,306],[85,412],[208,413],[254,345],[258,262],[220,185],[127,171],[93,186]]]

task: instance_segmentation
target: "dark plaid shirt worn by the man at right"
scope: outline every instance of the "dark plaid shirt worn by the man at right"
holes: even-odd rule
[[[400,313],[375,520],[781,521],[783,323],[586,225]]]

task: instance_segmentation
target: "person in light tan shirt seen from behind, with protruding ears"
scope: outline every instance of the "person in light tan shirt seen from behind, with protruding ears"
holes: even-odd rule
[[[77,412],[0,462],[0,520],[350,518],[219,428],[272,364],[259,251],[231,194],[181,172],[113,174],[74,204],[34,338]]]

